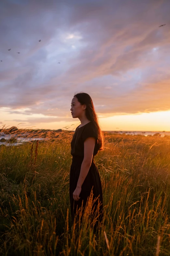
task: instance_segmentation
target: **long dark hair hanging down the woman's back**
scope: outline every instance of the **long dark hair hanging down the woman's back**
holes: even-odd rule
[[[99,150],[104,149],[104,135],[103,131],[100,129],[97,114],[94,109],[92,98],[87,93],[77,93],[74,97],[78,99],[81,105],[86,104],[86,117],[91,121],[97,128],[97,144],[99,145]]]

